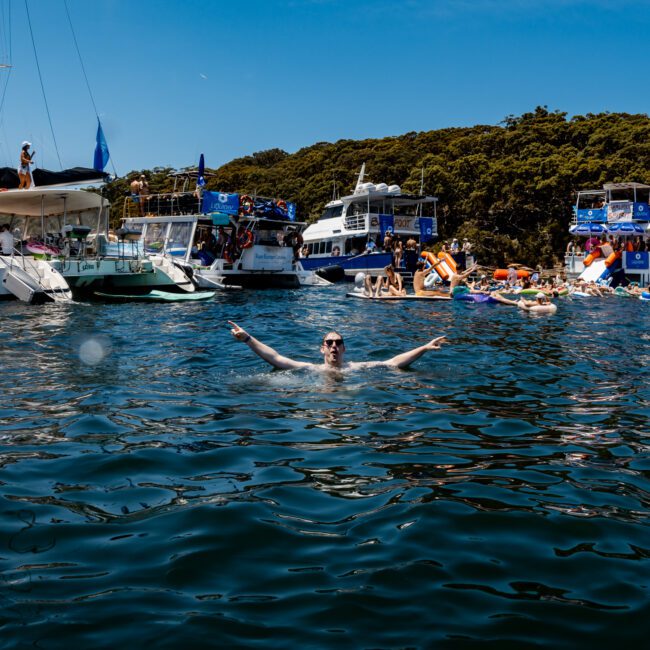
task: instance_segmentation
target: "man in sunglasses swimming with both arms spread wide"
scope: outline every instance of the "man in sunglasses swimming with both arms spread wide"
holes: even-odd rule
[[[308,363],[306,361],[295,361],[289,357],[282,356],[272,347],[258,341],[251,336],[246,330],[242,329],[236,323],[228,321],[232,325],[231,334],[242,343],[246,343],[255,354],[270,363],[275,368],[281,370],[298,370],[300,368],[312,370],[357,370],[360,368],[408,368],[414,361],[419,359],[423,354],[430,350],[439,350],[445,340],[445,336],[439,336],[432,339],[424,345],[420,345],[413,350],[398,354],[392,359],[386,361],[354,361],[346,363],[344,361],[345,343],[343,337],[338,332],[328,332],[323,337],[320,346],[320,352],[323,355],[323,363]]]

